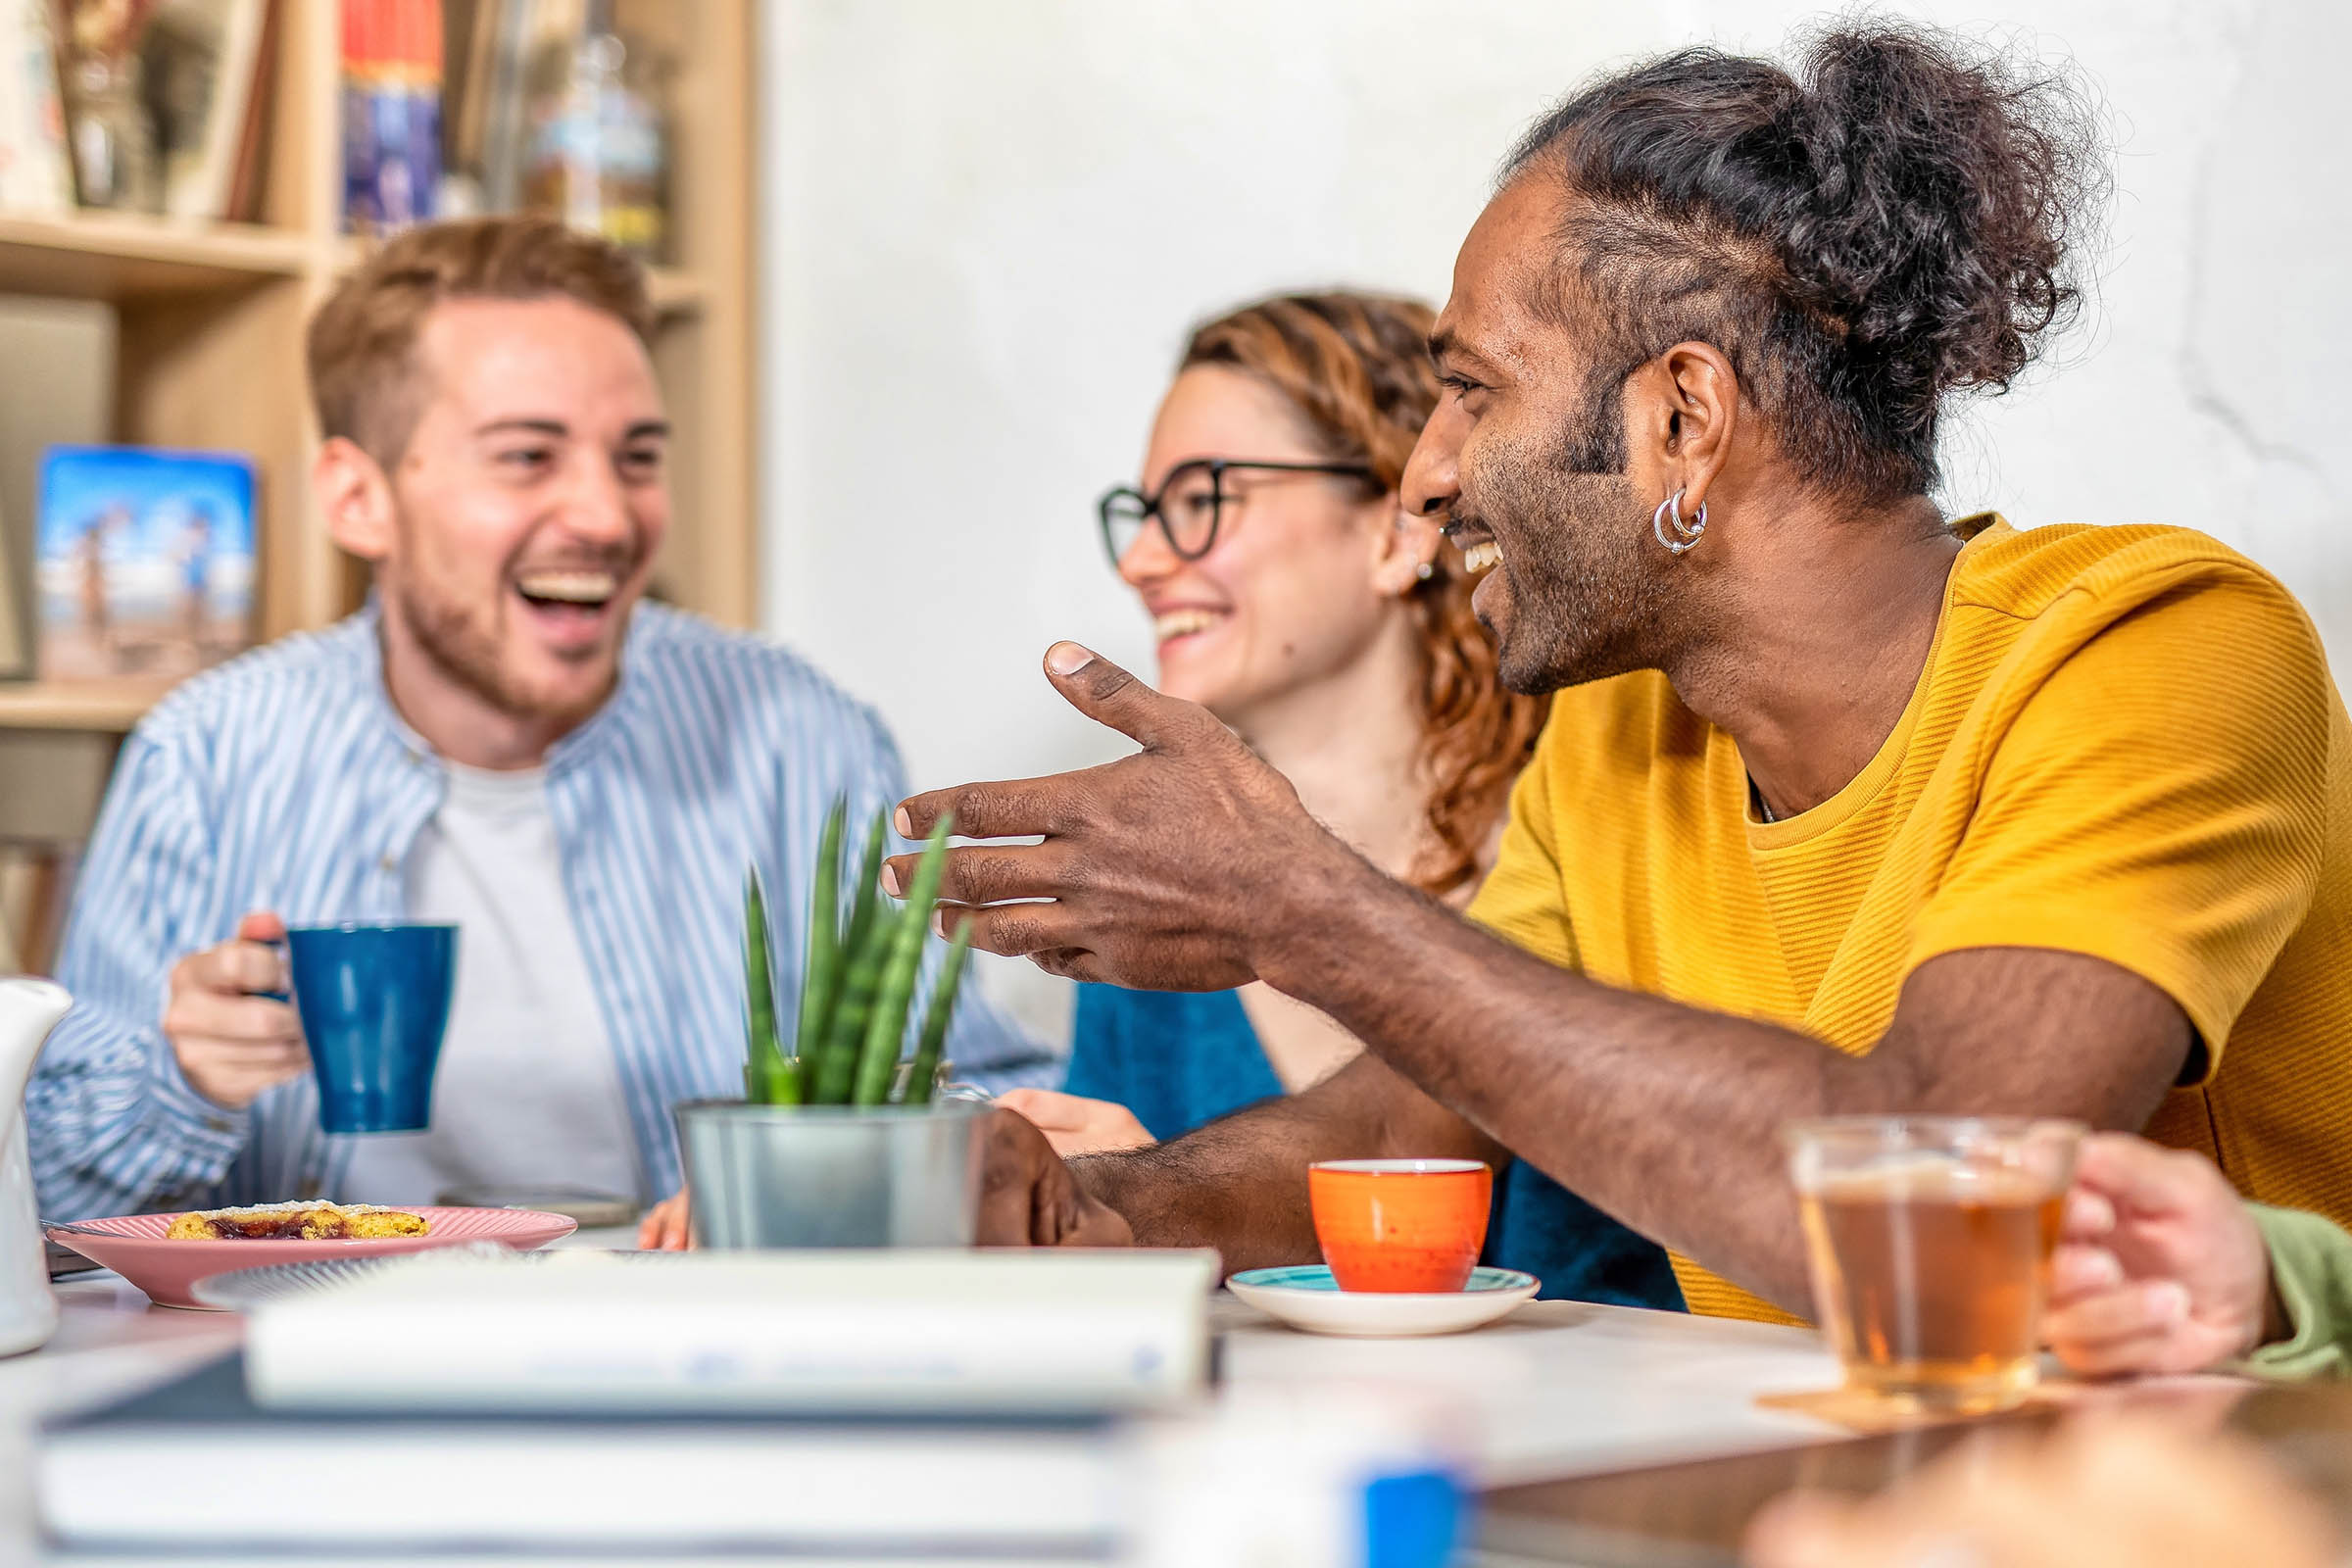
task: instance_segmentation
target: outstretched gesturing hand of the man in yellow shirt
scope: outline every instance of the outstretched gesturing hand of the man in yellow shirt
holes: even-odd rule
[[[1073,980],[1230,990],[1261,976],[1270,940],[1312,922],[1301,912],[1329,907],[1369,870],[1207,708],[1075,642],[1047,649],[1044,668],[1073,708],[1143,750],[1080,773],[931,790],[898,809],[910,839],[948,811],[962,837],[1042,837],[948,851],[938,896],[967,905],[948,922],[969,919],[974,947]],[[915,858],[898,856],[882,886],[903,896],[913,877]]]

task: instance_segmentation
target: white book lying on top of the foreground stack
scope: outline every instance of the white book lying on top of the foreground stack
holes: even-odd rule
[[[263,1302],[278,1410],[1108,1413],[1209,1380],[1216,1253],[426,1253]]]

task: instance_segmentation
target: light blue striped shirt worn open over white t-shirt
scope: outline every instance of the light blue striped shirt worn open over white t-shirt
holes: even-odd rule
[[[797,994],[826,809],[847,792],[863,823],[903,797],[898,750],[795,654],[642,604],[612,701],[548,752],[546,778],[652,1187],[637,1197],[663,1197],[680,1180],[670,1107],[743,1093],[743,867],[760,865],[776,978]],[[318,1131],[315,1081],[245,1112],[205,1100],[162,1037],[167,978],[247,910],[296,926],[402,919],[405,860],[445,783],[383,691],[374,609],[155,705],[82,860],[56,971],[75,1006],[26,1091],[42,1213],[334,1194],[353,1138]],[[950,1037],[962,1077],[1056,1077],[1040,1046],[964,997]]]

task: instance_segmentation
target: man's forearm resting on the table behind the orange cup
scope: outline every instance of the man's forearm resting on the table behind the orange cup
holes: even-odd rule
[[[1225,1272],[1312,1262],[1308,1166],[1317,1159],[1510,1159],[1392,1067],[1362,1056],[1315,1088],[1221,1117],[1183,1138],[1070,1161],[1143,1246],[1214,1246]]]

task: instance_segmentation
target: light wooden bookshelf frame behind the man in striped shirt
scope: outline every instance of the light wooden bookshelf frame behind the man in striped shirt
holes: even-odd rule
[[[329,0],[280,0],[261,223],[0,214],[0,292],[115,308],[113,440],[256,458],[261,639],[325,625],[367,590],[365,569],[334,550],[308,494],[318,433],[303,393],[303,327],[362,254],[341,233],[336,12]],[[656,588],[750,625],[753,0],[619,0],[616,14],[680,66],[670,92],[675,261],[652,277],[654,364],[677,423],[675,522]],[[0,731],[118,733],[155,696],[134,684],[0,684]]]

